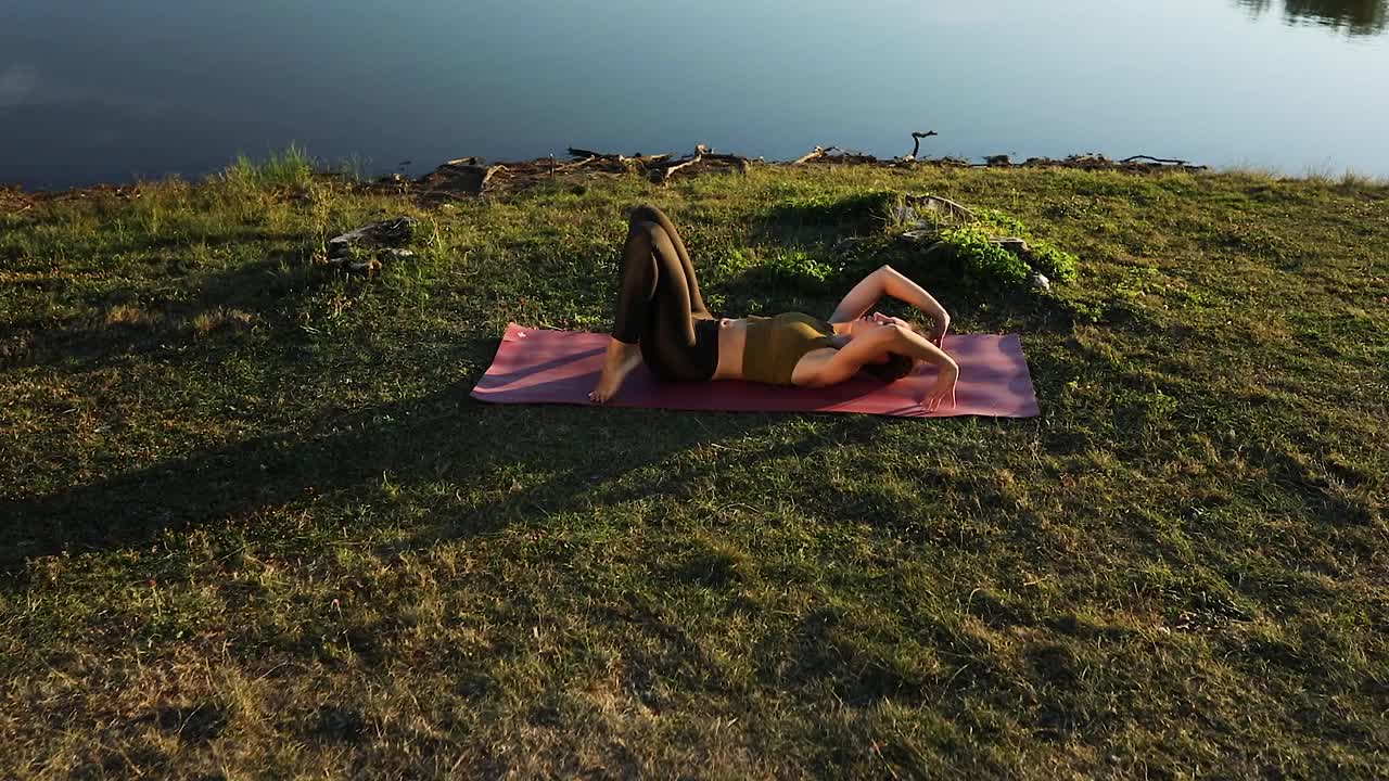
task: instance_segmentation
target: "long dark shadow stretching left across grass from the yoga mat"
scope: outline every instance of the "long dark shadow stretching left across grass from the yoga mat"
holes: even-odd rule
[[[751,435],[776,420],[763,414],[492,406],[469,399],[471,386],[472,379],[419,400],[325,414],[294,431],[0,503],[0,517],[7,518],[0,527],[0,571],[65,550],[138,546],[165,529],[236,521],[315,496],[351,506],[379,499],[383,475],[397,485],[461,484],[483,498],[501,489],[494,500],[446,503],[438,511],[422,507],[415,535],[406,545],[424,546],[501,528],[519,517],[586,507],[592,504],[586,495],[633,470],[692,447]],[[865,432],[875,425],[854,418],[838,425]],[[776,456],[774,449],[761,457]],[[554,470],[556,464],[565,468]],[[496,485],[507,470],[549,477],[507,492]],[[600,493],[603,502],[617,502],[617,493],[625,492]]]

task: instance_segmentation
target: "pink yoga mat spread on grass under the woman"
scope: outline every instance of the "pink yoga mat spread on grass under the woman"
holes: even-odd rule
[[[546,331],[513,322],[472,397],[499,404],[592,404],[607,349],[607,334]],[[936,368],[918,367],[896,382],[853,379],[829,388],[788,388],[721,379],[663,382],[646,365],[628,375],[608,407],[667,410],[868,413],[897,417],[1036,417],[1038,399],[1017,336],[946,336],[945,349],[960,364],[956,406],[926,413],[920,399]]]

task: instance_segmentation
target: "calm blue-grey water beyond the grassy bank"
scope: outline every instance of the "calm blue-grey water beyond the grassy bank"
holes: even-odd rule
[[[0,0],[0,182],[567,146],[1389,175],[1389,0]]]

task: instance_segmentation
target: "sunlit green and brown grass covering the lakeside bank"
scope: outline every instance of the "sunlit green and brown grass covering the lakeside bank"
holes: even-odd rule
[[[0,777],[1389,774],[1382,182],[306,170],[0,214]],[[833,253],[883,192],[1078,275]],[[726,314],[892,263],[1022,334],[1042,417],[472,402],[507,322],[610,324],[640,202]],[[415,260],[325,263],[394,214]]]

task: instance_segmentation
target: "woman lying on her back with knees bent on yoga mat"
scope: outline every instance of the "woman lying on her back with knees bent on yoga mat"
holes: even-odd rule
[[[867,314],[883,295],[931,317],[929,336],[904,320]],[[896,379],[918,360],[940,372],[926,397],[928,411],[949,399],[960,367],[942,350],[950,315],[920,285],[883,265],[854,285],[829,321],[807,314],[714,320],[694,279],[689,252],[669,218],[653,206],[632,211],[622,249],[613,340],[603,372],[589,393],[611,399],[642,360],[661,379],[749,379],[820,388],[860,370]]]

